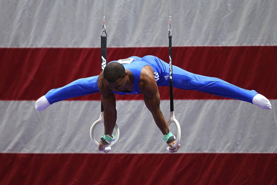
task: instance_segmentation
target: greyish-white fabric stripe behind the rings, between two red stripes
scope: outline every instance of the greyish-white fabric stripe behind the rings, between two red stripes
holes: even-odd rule
[[[175,100],[182,133],[179,153],[276,153],[277,100],[270,101],[272,110],[237,100]],[[0,152],[99,153],[89,129],[99,117],[100,101],[61,101],[42,112],[34,105],[35,101],[0,101]],[[169,100],[161,100],[160,107],[169,119]],[[112,153],[167,152],[143,100],[117,101],[117,115],[120,138]],[[176,133],[174,125],[170,131]],[[103,132],[103,126],[97,126],[95,137]]]

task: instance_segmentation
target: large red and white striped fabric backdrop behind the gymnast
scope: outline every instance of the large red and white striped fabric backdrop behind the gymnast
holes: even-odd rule
[[[106,0],[108,62],[168,62],[168,6]],[[254,89],[272,109],[174,89],[181,147],[169,154],[143,95],[116,95],[120,138],[107,154],[89,137],[99,93],[34,108],[48,90],[100,73],[103,2],[0,1],[0,184],[276,184],[276,9],[270,0],[171,1],[173,65]],[[159,91],[169,119],[169,87]]]

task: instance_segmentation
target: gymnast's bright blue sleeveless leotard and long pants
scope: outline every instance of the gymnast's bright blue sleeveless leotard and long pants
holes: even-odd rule
[[[144,56],[143,58],[132,56],[134,58],[131,63],[123,64],[125,69],[132,72],[134,76],[134,85],[132,92],[114,92],[119,95],[125,94],[140,94],[139,92],[139,77],[141,69],[149,65],[152,67],[155,80],[158,86],[169,86],[169,64],[160,60],[155,56]],[[117,62],[117,61],[112,61]],[[207,77],[202,75],[196,75],[185,71],[177,66],[173,65],[173,87],[198,90],[201,92],[210,93],[222,97],[228,97],[233,99],[239,99],[252,103],[252,99],[258,93],[254,90],[246,90],[237,87],[233,84],[225,82],[219,78]],[[99,92],[97,85],[98,76],[78,79],[70,84],[61,88],[52,89],[45,95],[50,104],[64,99],[88,95],[91,93]]]

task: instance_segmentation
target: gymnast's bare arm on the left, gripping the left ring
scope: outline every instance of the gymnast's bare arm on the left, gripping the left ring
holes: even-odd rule
[[[103,72],[100,73],[98,80],[98,88],[101,93],[101,103],[104,107],[104,134],[112,136],[113,129],[115,127],[117,119],[117,111],[115,106],[115,95],[112,93],[111,89],[106,85],[103,77]],[[107,144],[102,141],[99,142],[99,150],[104,149]]]

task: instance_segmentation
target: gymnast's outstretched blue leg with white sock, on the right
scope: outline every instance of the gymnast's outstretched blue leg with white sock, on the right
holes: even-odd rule
[[[163,65],[166,65],[166,68],[169,66],[165,62]],[[172,71],[173,87],[186,90],[198,90],[213,95],[247,101],[263,109],[271,109],[269,100],[263,95],[258,94],[255,90],[246,90],[219,78],[196,75],[177,66],[173,66]],[[164,74],[164,76],[166,75],[169,75],[168,71]],[[169,82],[166,83],[169,85]],[[160,85],[163,86],[164,84]]]

